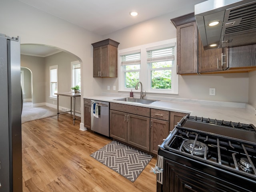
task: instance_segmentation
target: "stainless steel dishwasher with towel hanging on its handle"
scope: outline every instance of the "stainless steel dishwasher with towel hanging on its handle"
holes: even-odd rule
[[[93,115],[94,103],[98,105],[98,118]],[[109,102],[91,100],[91,130],[109,137]]]

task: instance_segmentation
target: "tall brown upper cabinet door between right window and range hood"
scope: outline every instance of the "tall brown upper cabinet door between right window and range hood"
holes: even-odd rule
[[[196,22],[177,26],[177,74],[198,72],[198,30]]]

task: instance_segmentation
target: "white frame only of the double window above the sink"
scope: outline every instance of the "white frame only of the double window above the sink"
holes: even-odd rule
[[[123,92],[130,92],[131,88],[125,88],[124,82],[124,71],[122,70],[121,66],[121,56],[124,54],[131,54],[140,52],[140,81],[143,84],[143,92],[146,91],[147,93],[158,93],[158,94],[178,94],[178,74],[177,74],[177,46],[176,46],[177,39],[168,39],[160,42],[154,42],[150,44],[144,44],[141,46],[126,48],[122,50],[118,50],[118,91]],[[158,48],[164,47],[174,47],[174,62],[172,65],[172,88],[171,90],[152,90],[151,89],[151,79],[149,76],[149,65],[147,62],[147,51],[154,50]],[[140,90],[133,90],[134,92],[140,92]]]

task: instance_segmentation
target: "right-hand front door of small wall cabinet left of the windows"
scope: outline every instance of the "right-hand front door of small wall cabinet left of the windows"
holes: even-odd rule
[[[100,76],[101,77],[109,76],[109,45],[105,45],[101,47]]]

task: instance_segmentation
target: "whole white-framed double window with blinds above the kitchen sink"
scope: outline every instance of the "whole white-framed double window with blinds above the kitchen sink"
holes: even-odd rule
[[[120,91],[130,91],[138,81],[147,93],[178,94],[176,38],[118,51]]]

